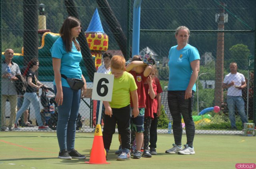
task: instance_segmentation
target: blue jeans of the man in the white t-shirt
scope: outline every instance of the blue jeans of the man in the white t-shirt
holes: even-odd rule
[[[236,128],[236,118],[235,118],[235,107],[238,110],[238,114],[241,117],[242,123],[247,123],[247,117],[244,111],[244,99],[242,96],[231,96],[227,95],[228,112],[231,127]]]

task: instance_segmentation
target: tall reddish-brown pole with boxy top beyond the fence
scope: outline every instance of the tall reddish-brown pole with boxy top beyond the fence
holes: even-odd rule
[[[225,14],[225,4],[220,3],[220,13],[216,14],[216,22],[218,30],[224,30],[224,23],[228,22],[228,14]],[[223,101],[223,67],[224,67],[224,32],[217,33],[217,52],[216,52],[216,68],[215,68],[215,90],[214,105],[221,106]]]

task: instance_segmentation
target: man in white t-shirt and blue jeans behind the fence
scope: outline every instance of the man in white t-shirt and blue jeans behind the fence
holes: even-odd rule
[[[237,72],[236,62],[231,62],[229,68],[230,73],[225,76],[222,87],[228,89],[227,104],[231,123],[230,129],[237,130],[235,108],[238,110],[242,124],[247,123],[247,117],[244,111],[244,99],[242,97],[242,89],[246,87],[246,82],[244,75]]]

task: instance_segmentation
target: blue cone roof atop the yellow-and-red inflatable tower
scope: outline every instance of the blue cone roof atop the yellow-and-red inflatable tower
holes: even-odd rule
[[[86,32],[101,32],[101,33],[104,33],[97,8],[96,8],[96,10],[95,10],[95,12],[92,16],[92,20],[91,20]]]

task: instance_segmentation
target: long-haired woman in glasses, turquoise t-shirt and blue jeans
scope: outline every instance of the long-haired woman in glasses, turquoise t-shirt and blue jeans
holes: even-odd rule
[[[81,23],[74,17],[64,20],[58,38],[50,52],[54,70],[55,101],[58,104],[57,138],[60,147],[60,159],[85,159],[84,155],[75,150],[76,118],[78,116],[81,93],[86,93],[86,80],[79,66],[82,60],[80,45],[76,38],[81,32]],[[72,89],[67,78],[82,79],[81,89]],[[63,77],[64,77],[63,76]],[[80,88],[80,87],[79,87]]]

